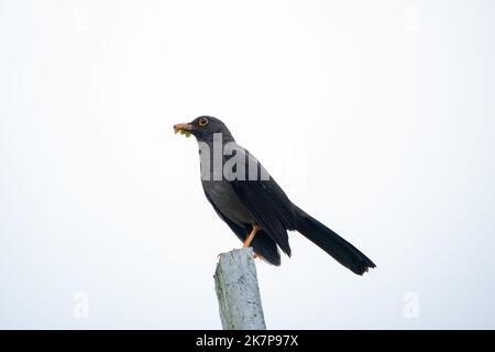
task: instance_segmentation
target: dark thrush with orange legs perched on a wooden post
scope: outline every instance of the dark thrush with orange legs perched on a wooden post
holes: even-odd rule
[[[205,196],[255,256],[280,265],[279,250],[292,255],[287,231],[297,231],[358,275],[376,267],[354,245],[292,202],[220,119],[200,116],[175,124],[174,131],[196,138]]]

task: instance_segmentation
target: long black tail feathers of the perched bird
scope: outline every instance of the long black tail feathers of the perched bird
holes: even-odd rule
[[[297,228],[311,242],[333,256],[336,261],[358,275],[363,275],[370,267],[376,265],[351,243],[342,239],[324,224],[296,207]]]

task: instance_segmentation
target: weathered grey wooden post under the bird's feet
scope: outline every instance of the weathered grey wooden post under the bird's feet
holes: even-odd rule
[[[253,249],[220,254],[215,290],[223,330],[266,330]]]

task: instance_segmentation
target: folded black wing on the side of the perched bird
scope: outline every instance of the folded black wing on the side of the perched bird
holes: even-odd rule
[[[249,165],[251,163],[257,163],[260,169],[264,170],[257,160],[246,151],[244,163],[237,164],[238,169],[244,167],[246,179],[230,180],[232,189],[251,211],[257,224],[273,238],[285,253],[290,255],[287,230],[295,229],[294,206],[271,176],[268,179],[256,177],[256,179],[250,180]],[[266,173],[266,175],[268,174]]]

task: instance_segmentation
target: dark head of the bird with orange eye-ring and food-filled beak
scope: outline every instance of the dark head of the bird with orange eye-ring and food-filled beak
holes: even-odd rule
[[[189,123],[174,124],[175,133],[194,135],[198,141],[208,141],[213,138],[215,133],[221,133],[223,139],[232,139],[227,125],[217,118],[202,116],[194,119]]]

